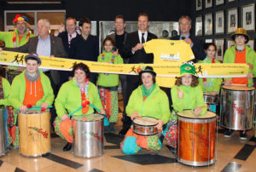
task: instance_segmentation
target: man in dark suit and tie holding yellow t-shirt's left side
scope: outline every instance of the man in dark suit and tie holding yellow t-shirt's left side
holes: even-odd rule
[[[129,64],[138,63],[153,63],[154,55],[146,54],[143,49],[143,43],[156,39],[157,37],[148,32],[148,26],[150,22],[148,20],[148,14],[139,14],[137,19],[137,32],[131,32],[128,34],[127,43],[125,45],[126,54],[128,54]],[[134,89],[137,89],[139,85],[139,77],[134,75],[127,76],[127,99]],[[127,100],[127,102],[128,102]],[[123,129],[119,132],[120,135],[125,135],[128,129],[131,127],[131,118],[126,115],[122,119]]]

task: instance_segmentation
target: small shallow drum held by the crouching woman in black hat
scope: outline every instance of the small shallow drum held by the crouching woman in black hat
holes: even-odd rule
[[[155,127],[158,123],[156,118],[142,117],[133,119],[133,132],[137,135],[156,135],[158,129]]]

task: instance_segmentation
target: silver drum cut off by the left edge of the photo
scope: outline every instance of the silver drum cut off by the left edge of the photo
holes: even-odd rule
[[[7,152],[7,137],[4,123],[4,109],[0,108],[0,156]]]

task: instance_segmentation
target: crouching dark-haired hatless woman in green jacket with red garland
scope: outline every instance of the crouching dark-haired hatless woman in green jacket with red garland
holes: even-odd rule
[[[89,104],[105,113],[98,90],[94,83],[89,82],[90,70],[84,63],[73,66],[73,79],[63,83],[55,99],[55,109],[58,117],[55,118],[55,132],[63,140],[67,140],[67,145],[63,151],[70,151],[73,143],[73,120],[68,117],[68,113],[74,112],[83,106],[79,111],[73,113],[72,118],[83,119],[82,116],[94,113],[94,109]]]

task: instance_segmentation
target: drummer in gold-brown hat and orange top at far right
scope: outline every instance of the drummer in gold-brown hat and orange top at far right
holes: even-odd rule
[[[247,63],[249,72],[246,77],[224,78],[224,85],[239,84],[253,87],[253,77],[256,76],[256,53],[246,45],[246,43],[249,42],[247,31],[243,28],[237,28],[236,32],[232,35],[232,39],[235,41],[236,45],[225,51],[223,62]],[[232,130],[226,129],[224,136],[230,137],[232,133]],[[246,131],[240,132],[240,139],[247,139]]]

